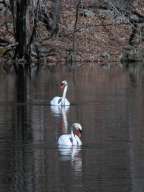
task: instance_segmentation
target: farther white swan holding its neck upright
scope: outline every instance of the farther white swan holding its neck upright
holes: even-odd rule
[[[65,106],[65,105],[70,105],[70,102],[66,98],[66,93],[68,89],[68,83],[67,81],[62,81],[61,82],[61,88],[63,89],[63,94],[62,97],[55,96],[51,101],[51,105],[57,105],[57,106]]]

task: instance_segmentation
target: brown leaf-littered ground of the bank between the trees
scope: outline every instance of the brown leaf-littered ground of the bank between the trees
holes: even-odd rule
[[[143,50],[144,22],[137,26],[131,46],[129,41],[133,28],[123,15],[115,17],[110,10],[97,9],[93,6],[94,1],[90,0],[83,1],[79,10],[76,11],[76,2],[62,0],[58,33],[51,36],[44,23],[38,23],[37,38],[32,51],[34,63],[40,62],[45,65],[66,62],[73,64],[76,61],[98,64],[119,63],[125,49],[131,47],[132,54],[133,50]],[[133,7],[138,13],[144,15],[143,1],[135,0]],[[10,44],[15,44],[15,39],[10,12],[3,11],[3,6],[0,9],[0,56],[3,60]],[[77,18],[76,14],[78,14]],[[38,60],[35,56],[35,47],[40,53]]]

